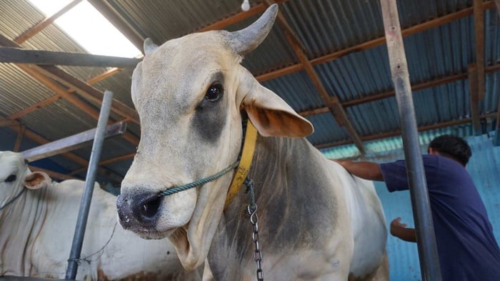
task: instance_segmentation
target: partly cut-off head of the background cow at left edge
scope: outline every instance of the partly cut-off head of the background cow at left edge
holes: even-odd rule
[[[21,153],[0,151],[0,208],[11,204],[24,188],[39,189],[50,183],[46,173],[31,173]]]

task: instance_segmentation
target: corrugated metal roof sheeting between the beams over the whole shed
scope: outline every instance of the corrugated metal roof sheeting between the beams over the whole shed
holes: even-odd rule
[[[110,0],[106,3],[140,36],[151,37],[157,44],[197,31],[229,16],[241,15],[240,0]],[[280,3],[281,13],[304,46],[306,56],[311,60],[384,36],[380,4],[376,0],[288,0]],[[489,9],[484,11],[485,63],[486,66],[494,66],[500,63],[500,19],[496,9],[491,9],[492,2],[484,3],[489,6]],[[261,1],[251,1],[253,7],[260,4]],[[439,123],[461,121],[471,116],[466,73],[469,64],[476,60],[472,4],[471,0],[397,1],[403,29],[468,9],[467,13],[461,13],[460,19],[440,21],[434,28],[419,30],[404,37],[410,81],[414,86],[464,74],[459,80],[414,91],[418,126],[436,126]],[[224,29],[234,31],[244,28],[258,16],[249,18],[243,16],[241,21],[229,21],[231,25]],[[42,19],[44,15],[28,1],[0,1],[0,32],[8,39],[16,38]],[[76,44],[55,24],[46,27],[22,46],[42,50],[85,52],[84,48]],[[346,104],[344,108],[347,117],[359,136],[365,140],[364,145],[369,154],[401,148],[401,141],[397,137],[367,141],[371,140],[372,136],[386,136],[399,131],[399,113],[394,96],[354,103],[360,98],[370,98],[393,90],[386,46],[380,42],[369,48],[364,46],[359,49],[354,48],[339,58],[314,63],[314,70],[327,93],[338,97],[341,103]],[[254,52],[247,54],[243,61],[243,65],[254,75],[269,73],[286,66],[297,66],[297,63],[299,59],[286,41],[279,24],[274,25],[264,43]],[[74,66],[60,66],[60,68],[82,81],[94,78],[107,70]],[[338,145],[351,140],[351,136],[344,127],[336,123],[327,108],[324,108],[325,102],[320,98],[314,83],[303,68],[301,69],[263,81],[262,84],[284,98],[296,111],[321,112],[317,115],[306,115],[315,128],[315,133],[308,137],[311,143],[319,147],[336,145],[335,148],[322,149],[327,155],[333,155],[333,158],[357,157],[359,150],[355,145]],[[479,103],[481,114],[498,111],[499,75],[498,71],[486,73],[484,101]],[[133,108],[130,77],[131,70],[121,71],[96,83],[94,87],[101,92],[113,91],[118,101]],[[49,89],[11,64],[0,64],[0,83],[2,101],[0,113],[4,118],[54,96]],[[61,88],[67,90],[63,85]],[[79,96],[78,93],[76,96]],[[94,108],[94,111],[99,111],[99,106],[85,101],[84,98],[80,99]],[[116,113],[111,113],[111,117],[115,120],[123,119]],[[22,116],[19,121],[28,125],[30,130],[41,133],[49,141],[93,128],[96,123],[94,118],[90,118],[66,100],[43,106]],[[490,116],[484,121],[486,121],[484,126],[491,128],[496,122],[495,116]],[[131,134],[139,138],[139,125],[129,123],[128,128]],[[470,124],[452,126],[446,130],[456,131],[456,128],[471,131]],[[432,131],[421,132],[421,136],[427,134],[433,136]],[[123,147],[122,153],[133,153],[133,146]],[[84,153],[86,151],[82,150],[82,157]],[[127,163],[124,162],[124,165]]]

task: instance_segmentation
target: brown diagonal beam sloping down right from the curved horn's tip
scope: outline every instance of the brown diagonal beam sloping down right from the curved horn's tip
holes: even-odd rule
[[[265,2],[268,5],[273,4],[273,2],[269,0],[265,0]],[[349,137],[354,141],[361,154],[364,154],[365,149],[363,142],[361,142],[361,138],[359,138],[356,129],[354,128],[354,126],[352,126],[351,121],[349,121],[344,108],[339,103],[339,99],[336,96],[330,96],[326,91],[326,88],[321,82],[318,73],[316,73],[316,70],[314,70],[311,61],[309,61],[309,58],[306,56],[306,48],[300,41],[299,36],[296,36],[294,30],[291,29],[291,26],[289,25],[288,21],[286,21],[286,18],[281,13],[281,11],[278,11],[277,19],[279,25],[281,26],[281,29],[284,31],[286,40],[291,45],[291,48],[294,50],[297,58],[299,58],[299,61],[301,61],[302,67],[308,74],[309,78],[311,78],[314,87],[318,91],[319,96],[321,96],[321,98],[323,99],[326,107],[329,108],[330,113],[334,116],[339,126],[344,126],[347,133],[349,134]]]

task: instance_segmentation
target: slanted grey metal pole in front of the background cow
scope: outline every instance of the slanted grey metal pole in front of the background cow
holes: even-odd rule
[[[81,196],[80,210],[78,213],[78,219],[76,220],[73,244],[71,245],[71,252],[69,254],[68,270],[66,271],[67,280],[74,280],[76,278],[76,270],[78,269],[77,259],[80,257],[81,245],[84,242],[87,217],[89,215],[90,202],[92,200],[92,193],[94,192],[94,183],[96,181],[96,170],[99,164],[99,158],[101,157],[102,145],[104,143],[104,133],[106,130],[106,123],[108,123],[112,101],[113,92],[105,91],[101,105],[101,112],[99,113],[99,121],[97,121],[94,144],[92,145],[89,168],[85,179],[84,194]]]

